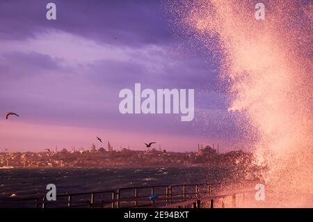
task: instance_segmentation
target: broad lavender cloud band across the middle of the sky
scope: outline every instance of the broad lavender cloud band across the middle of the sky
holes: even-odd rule
[[[111,46],[51,30],[24,40],[4,40],[0,47],[0,65],[8,68],[0,86],[3,95],[13,91],[1,97],[2,109],[18,107],[29,121],[80,127],[109,124],[151,133],[195,132],[193,125],[182,125],[178,116],[121,116],[118,93],[122,88],[133,89],[135,83],[154,90],[195,88],[196,106],[223,108],[220,94],[205,92],[216,77],[213,67],[195,56],[177,57],[170,47]]]

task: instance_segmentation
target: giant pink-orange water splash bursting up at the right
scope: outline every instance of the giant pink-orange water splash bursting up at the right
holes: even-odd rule
[[[230,81],[229,111],[245,113],[253,126],[257,142],[250,147],[266,168],[267,187],[297,198],[313,193],[313,7],[266,1],[266,17],[257,20],[255,3],[200,0],[167,8],[184,33],[216,50],[220,77]]]

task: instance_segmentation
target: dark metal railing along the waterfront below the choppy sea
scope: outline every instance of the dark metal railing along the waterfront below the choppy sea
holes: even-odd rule
[[[244,183],[245,185],[247,182]],[[253,183],[255,184],[255,183]],[[236,187],[236,189],[234,189]],[[64,193],[56,196],[56,201],[48,201],[46,196],[20,199],[19,201],[35,201],[35,207],[97,207],[97,208],[131,208],[131,207],[211,207],[222,199],[220,207],[224,207],[223,199],[234,198],[243,191],[243,183],[219,184],[178,184],[146,187],[126,187],[104,191],[83,193]],[[236,190],[236,192],[234,192]],[[220,194],[221,192],[227,192]],[[151,196],[156,195],[152,199]],[[234,204],[235,206],[235,204]]]

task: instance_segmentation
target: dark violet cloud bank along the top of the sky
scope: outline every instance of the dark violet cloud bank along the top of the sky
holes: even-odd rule
[[[159,1],[56,0],[56,21],[46,19],[46,3],[1,1],[0,38],[20,40],[57,29],[110,45],[139,47],[173,42]]]

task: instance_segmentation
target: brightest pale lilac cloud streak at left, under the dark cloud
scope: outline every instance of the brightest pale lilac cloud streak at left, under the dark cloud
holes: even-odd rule
[[[93,63],[108,58],[115,61],[129,59],[125,49],[99,44],[79,35],[56,30],[36,33],[32,38],[24,40],[3,40],[0,42],[0,47],[1,54],[18,51],[24,54],[35,52],[35,54],[49,55],[51,58],[58,59],[63,66]]]

